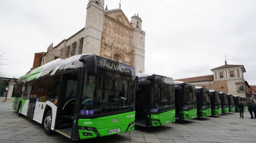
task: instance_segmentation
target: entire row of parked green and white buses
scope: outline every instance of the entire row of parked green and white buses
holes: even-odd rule
[[[13,109],[46,135],[73,141],[155,127],[176,119],[238,111],[246,99],[161,75],[146,75],[92,54],[55,59],[22,76]]]

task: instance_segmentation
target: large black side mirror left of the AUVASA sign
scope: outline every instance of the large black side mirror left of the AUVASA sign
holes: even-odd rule
[[[93,75],[93,76],[96,75],[96,73],[97,73],[97,59],[96,59],[95,55],[89,55],[89,56],[86,56],[86,58],[83,58],[83,56],[81,56],[79,61],[86,64],[87,73],[89,73],[90,75]]]

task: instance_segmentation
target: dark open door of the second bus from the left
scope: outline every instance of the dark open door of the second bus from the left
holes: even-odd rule
[[[146,99],[146,95],[148,95],[147,92],[148,87],[146,84],[140,84],[139,85],[139,91],[137,91],[136,94],[136,123],[140,125],[146,124],[146,102],[148,101]],[[149,96],[148,96],[149,98]]]

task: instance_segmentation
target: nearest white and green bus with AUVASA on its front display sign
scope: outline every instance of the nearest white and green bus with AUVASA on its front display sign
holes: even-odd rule
[[[73,141],[134,130],[135,68],[96,55],[55,59],[22,76],[13,109]]]

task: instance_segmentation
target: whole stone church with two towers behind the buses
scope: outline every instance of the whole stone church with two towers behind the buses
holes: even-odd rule
[[[82,53],[94,53],[145,71],[145,31],[142,19],[134,14],[129,21],[120,8],[104,8],[104,0],[89,0],[86,25],[47,52],[35,53],[33,68],[53,61],[66,59]]]

